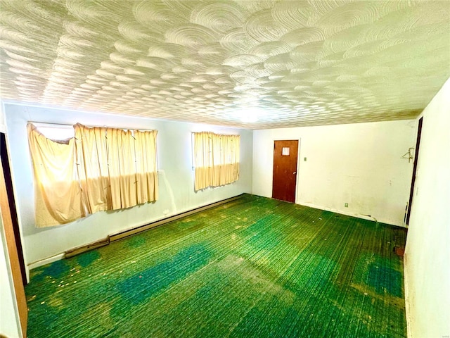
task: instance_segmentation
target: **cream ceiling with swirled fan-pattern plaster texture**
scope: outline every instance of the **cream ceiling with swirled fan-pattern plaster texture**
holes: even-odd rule
[[[450,1],[0,1],[1,98],[262,129],[414,118]]]

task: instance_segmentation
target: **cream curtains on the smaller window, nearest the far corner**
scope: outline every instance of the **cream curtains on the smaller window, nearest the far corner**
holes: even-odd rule
[[[239,179],[239,135],[194,132],[195,191]]]

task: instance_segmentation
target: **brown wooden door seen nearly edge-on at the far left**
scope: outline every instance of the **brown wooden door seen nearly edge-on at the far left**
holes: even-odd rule
[[[13,284],[15,299],[18,305],[20,326],[22,327],[23,337],[27,337],[27,318],[28,308],[27,299],[25,298],[25,289],[23,287],[22,274],[20,272],[20,263],[18,257],[17,246],[15,245],[15,234],[13,230],[13,221],[11,218],[11,210],[8,203],[8,194],[6,193],[5,177],[3,168],[0,165],[0,209],[1,220],[3,223],[6,246],[8,248],[9,262],[11,264],[11,273],[13,275]]]

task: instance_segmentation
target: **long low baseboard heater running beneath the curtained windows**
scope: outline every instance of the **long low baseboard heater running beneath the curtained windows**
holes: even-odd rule
[[[176,215],[173,215],[173,216],[170,216],[167,218],[163,218],[162,220],[157,220],[153,223],[148,223],[146,225],[141,225],[140,227],[135,227],[134,229],[131,229],[131,230],[126,230],[124,232],[119,232],[117,234],[111,234],[108,237],[106,237],[105,239],[101,239],[98,242],[94,242],[94,243],[87,244],[84,246],[79,246],[75,249],[70,249],[68,251],[65,251],[64,258],[70,258],[70,257],[76,256],[76,255],[79,255],[79,253],[84,253],[86,251],[100,248],[101,246],[108,245],[111,242],[115,242],[120,239],[124,239],[125,237],[129,237],[134,234],[139,234],[139,232],[153,229],[153,227],[159,227],[160,225],[164,225],[164,224],[172,222],[174,220],[179,220],[180,218],[184,218],[186,216],[193,215],[194,213],[200,213],[200,211],[205,211],[207,209],[214,208],[214,206],[221,206],[222,204],[226,204],[231,201],[236,201],[236,199],[242,198],[243,195],[244,194],[240,194],[238,196],[230,197],[229,199],[224,199],[222,201],[218,201],[218,202],[215,202],[212,204],[207,204],[206,206],[200,206],[200,208],[195,208],[190,211],[185,211],[184,213],[178,213]]]

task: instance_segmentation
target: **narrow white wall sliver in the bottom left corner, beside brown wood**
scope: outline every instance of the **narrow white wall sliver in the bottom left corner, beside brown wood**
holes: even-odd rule
[[[9,265],[8,249],[0,215],[0,336],[22,337],[15,301],[13,275]]]

